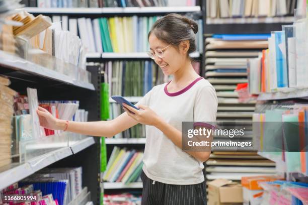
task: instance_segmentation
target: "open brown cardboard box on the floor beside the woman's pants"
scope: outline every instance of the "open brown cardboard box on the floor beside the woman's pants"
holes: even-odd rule
[[[208,205],[242,204],[242,185],[226,179],[208,183]]]

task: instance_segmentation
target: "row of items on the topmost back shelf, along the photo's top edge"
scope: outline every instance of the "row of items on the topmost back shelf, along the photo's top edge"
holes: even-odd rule
[[[196,6],[198,2],[181,0],[23,0],[21,4],[26,7],[39,8],[98,8],[98,7],[175,7],[175,6]]]

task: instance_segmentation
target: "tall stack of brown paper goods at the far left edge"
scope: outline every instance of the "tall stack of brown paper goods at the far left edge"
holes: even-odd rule
[[[12,118],[14,115],[14,96],[16,91],[8,87],[11,81],[0,76],[0,167],[11,163]]]

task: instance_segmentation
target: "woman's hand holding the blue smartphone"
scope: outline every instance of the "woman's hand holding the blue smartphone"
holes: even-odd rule
[[[149,107],[143,105],[137,107],[142,110],[136,110],[123,103],[123,109],[126,111],[127,115],[138,121],[138,123],[156,126],[160,122],[160,117]]]

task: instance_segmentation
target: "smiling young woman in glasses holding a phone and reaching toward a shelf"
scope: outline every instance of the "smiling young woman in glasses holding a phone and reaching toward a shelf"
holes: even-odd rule
[[[137,103],[111,121],[71,122],[55,119],[39,108],[41,126],[90,136],[113,137],[138,124],[146,125],[142,204],[206,204],[202,169],[210,152],[183,151],[182,122],[214,122],[217,97],[213,86],[193,69],[196,22],[178,14],[159,19],[148,33],[149,56],[168,83],[153,87]]]

